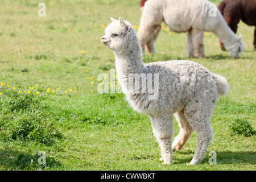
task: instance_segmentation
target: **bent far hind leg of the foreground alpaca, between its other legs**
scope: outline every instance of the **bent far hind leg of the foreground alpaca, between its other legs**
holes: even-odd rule
[[[175,118],[179,123],[180,133],[174,139],[174,143],[172,143],[172,151],[180,151],[184,144],[187,142],[188,138],[193,133],[193,129],[184,116],[184,110],[177,111],[175,113]]]

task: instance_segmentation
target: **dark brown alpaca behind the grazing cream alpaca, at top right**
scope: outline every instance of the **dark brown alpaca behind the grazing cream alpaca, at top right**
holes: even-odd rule
[[[256,51],[256,0],[223,0],[218,5],[218,10],[234,33],[237,32],[240,19],[249,26],[255,26],[253,46]],[[221,42],[220,47],[225,50]]]

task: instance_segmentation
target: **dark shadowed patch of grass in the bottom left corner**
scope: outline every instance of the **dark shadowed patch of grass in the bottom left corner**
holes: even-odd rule
[[[0,170],[18,169],[18,170],[35,170],[47,169],[52,167],[60,167],[61,163],[55,158],[48,157],[46,154],[46,164],[39,164],[39,160],[43,155],[30,154],[27,152],[20,152],[10,148],[0,148]],[[40,159],[39,159],[40,158]]]

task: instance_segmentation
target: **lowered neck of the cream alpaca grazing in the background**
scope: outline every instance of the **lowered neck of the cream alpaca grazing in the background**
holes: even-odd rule
[[[217,35],[218,39],[220,39],[225,47],[232,46],[232,44],[237,40],[237,35],[234,34],[222,17],[216,24],[216,28],[213,32]]]

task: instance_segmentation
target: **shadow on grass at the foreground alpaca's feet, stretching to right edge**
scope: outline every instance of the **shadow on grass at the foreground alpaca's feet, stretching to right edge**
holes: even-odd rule
[[[187,155],[193,152],[179,152],[180,154]],[[256,164],[256,152],[255,151],[217,151],[216,152],[216,163],[217,164]],[[209,164],[209,159],[212,155],[209,155],[209,151],[204,157],[204,160],[199,164]],[[179,156],[175,159],[174,164],[182,164],[191,162],[192,157],[179,159]]]

